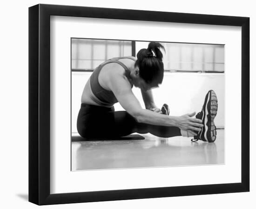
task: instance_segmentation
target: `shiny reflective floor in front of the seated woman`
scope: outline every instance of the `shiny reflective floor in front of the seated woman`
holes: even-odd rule
[[[214,143],[187,137],[72,142],[72,170],[145,168],[224,163],[224,130]]]

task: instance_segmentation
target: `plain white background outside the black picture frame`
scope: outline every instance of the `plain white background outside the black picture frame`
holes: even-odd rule
[[[249,16],[251,35],[251,69],[256,65],[254,57],[256,14],[253,1],[222,1],[214,2],[203,0],[180,1],[149,1],[149,0],[41,0],[41,1],[5,1],[0,8],[1,21],[1,76],[0,76],[0,103],[1,118],[1,178],[0,195],[1,208],[37,208],[27,202],[27,175],[28,175],[28,7],[37,3],[65,4],[88,7],[114,7],[124,9],[142,9],[167,12],[204,13],[234,16]],[[8,41],[9,40],[9,41]],[[253,91],[256,85],[252,82],[256,72],[251,71],[251,107],[255,105]],[[251,127],[256,121],[255,110],[251,109]],[[15,117],[15,123],[13,122]],[[14,127],[14,124],[16,125]],[[15,134],[15,135],[13,135]],[[255,133],[251,132],[251,138]],[[251,140],[251,150],[256,144]],[[251,151],[251,176],[255,176],[255,152]],[[191,175],[188,175],[190,178]],[[208,209],[216,208],[255,208],[256,181],[251,179],[251,192],[218,194],[205,196],[168,197],[155,199],[141,199],[128,201],[93,202],[45,206],[44,208],[189,208]]]

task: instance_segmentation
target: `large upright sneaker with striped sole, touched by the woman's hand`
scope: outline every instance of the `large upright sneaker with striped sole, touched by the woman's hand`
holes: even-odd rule
[[[191,139],[192,142],[202,140],[204,142],[214,142],[216,140],[216,126],[214,124],[214,118],[216,117],[218,110],[218,100],[216,93],[213,90],[208,91],[205,96],[202,111],[198,112],[195,118],[202,120],[202,130]]]

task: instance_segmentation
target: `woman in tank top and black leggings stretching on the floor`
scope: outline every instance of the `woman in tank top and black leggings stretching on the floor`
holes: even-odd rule
[[[158,137],[195,136],[195,140],[203,140],[205,138],[198,138],[199,134],[206,128],[214,129],[215,125],[211,122],[215,116],[205,122],[205,116],[192,118],[195,112],[180,117],[160,114],[161,110],[156,107],[151,91],[163,80],[160,48],[164,49],[160,43],[150,42],[147,49],[137,53],[137,59],[109,59],[94,70],[81,97],[82,104],[77,118],[77,130],[81,137],[116,138],[134,132],[149,132]],[[133,94],[133,86],[141,89],[146,109],[142,109]],[[113,105],[117,102],[125,111],[115,111]],[[204,105],[209,106],[210,102],[212,97]],[[212,112],[211,109],[208,111]],[[207,134],[211,135],[207,141],[215,140],[212,137],[214,134]]]

